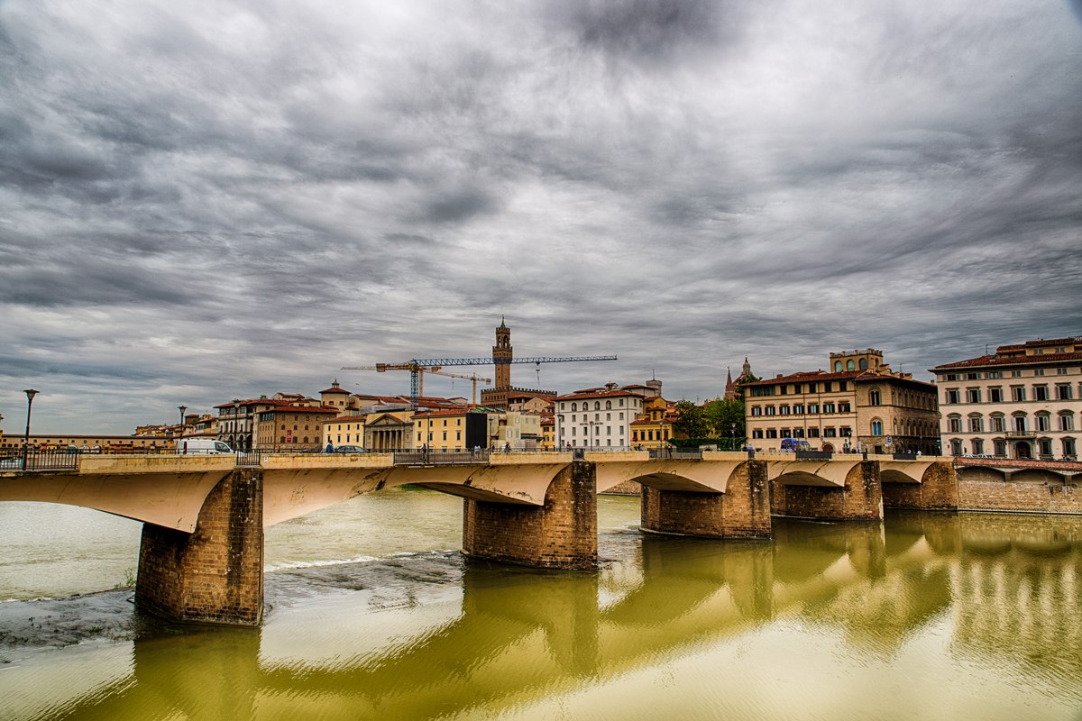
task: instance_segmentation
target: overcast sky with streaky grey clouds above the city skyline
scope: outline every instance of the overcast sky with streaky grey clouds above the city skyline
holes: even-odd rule
[[[929,379],[1082,335],[1080,258],[1082,0],[0,0],[8,433],[408,392],[339,369],[501,315],[619,356],[565,392]]]

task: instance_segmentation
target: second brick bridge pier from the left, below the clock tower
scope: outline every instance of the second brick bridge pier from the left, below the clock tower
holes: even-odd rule
[[[544,506],[466,498],[462,552],[542,569],[596,569],[596,485],[594,464],[576,460],[549,484]]]

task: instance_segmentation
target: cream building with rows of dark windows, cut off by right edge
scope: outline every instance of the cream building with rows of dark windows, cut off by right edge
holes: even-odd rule
[[[1078,457],[1082,338],[1029,341],[932,369],[945,453]]]

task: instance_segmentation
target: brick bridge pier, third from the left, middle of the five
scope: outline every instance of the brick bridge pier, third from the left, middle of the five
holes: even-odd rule
[[[700,538],[769,538],[770,483],[766,464],[733,471],[725,493],[659,491],[643,485],[642,529]]]

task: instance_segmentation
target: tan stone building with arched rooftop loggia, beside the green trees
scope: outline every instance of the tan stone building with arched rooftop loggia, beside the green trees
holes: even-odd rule
[[[742,384],[749,442],[764,451],[806,441],[833,452],[938,453],[934,385],[894,373],[872,348],[830,353],[830,368],[842,370]]]

